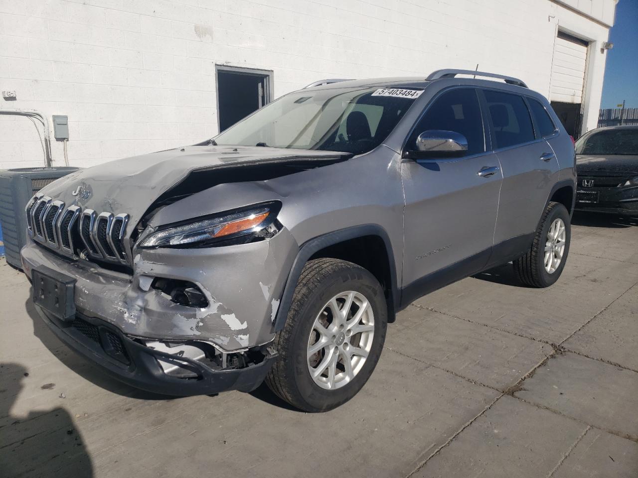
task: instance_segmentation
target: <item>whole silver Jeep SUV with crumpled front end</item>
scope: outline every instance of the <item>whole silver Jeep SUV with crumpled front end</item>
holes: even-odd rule
[[[574,191],[572,141],[521,80],[325,80],[212,140],[48,185],[22,264],[48,326],[118,379],[265,379],[318,412],[364,386],[415,298],[509,261],[553,284]]]

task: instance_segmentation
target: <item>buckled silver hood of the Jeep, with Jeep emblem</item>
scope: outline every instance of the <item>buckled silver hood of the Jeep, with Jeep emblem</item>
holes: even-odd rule
[[[137,224],[156,199],[192,173],[217,168],[246,168],[259,164],[339,161],[350,156],[332,151],[269,148],[188,146],[144,156],[126,157],[71,173],[43,188],[65,207],[79,205],[113,214],[130,215]]]

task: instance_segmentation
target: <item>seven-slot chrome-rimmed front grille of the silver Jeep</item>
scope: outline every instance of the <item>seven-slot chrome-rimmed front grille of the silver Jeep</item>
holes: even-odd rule
[[[96,214],[76,205],[65,209],[62,201],[48,196],[35,196],[25,211],[29,235],[50,249],[74,259],[84,253],[107,262],[130,263],[124,247],[128,214]]]

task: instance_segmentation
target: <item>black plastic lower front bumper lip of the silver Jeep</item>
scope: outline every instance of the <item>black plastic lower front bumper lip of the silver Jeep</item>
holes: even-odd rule
[[[77,314],[75,321],[63,322],[36,306],[40,316],[57,337],[70,349],[89,359],[115,379],[152,393],[173,396],[210,395],[227,390],[251,391],[258,387],[276,358],[269,352],[260,363],[245,368],[214,370],[188,358],[187,363],[197,378],[182,379],[164,373],[157,358],[175,357],[149,349],[122,334],[108,322]]]

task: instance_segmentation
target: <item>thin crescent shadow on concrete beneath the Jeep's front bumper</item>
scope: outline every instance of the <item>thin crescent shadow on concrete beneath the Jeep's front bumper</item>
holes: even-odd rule
[[[33,335],[37,337],[59,361],[84,379],[112,393],[117,393],[117,395],[128,396],[137,400],[174,400],[176,398],[140,390],[110,377],[110,375],[96,368],[89,361],[78,356],[78,354],[64,345],[63,342],[49,330],[30,298],[27,299],[24,306],[31,321],[33,321]]]

